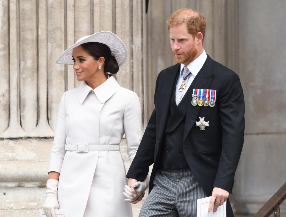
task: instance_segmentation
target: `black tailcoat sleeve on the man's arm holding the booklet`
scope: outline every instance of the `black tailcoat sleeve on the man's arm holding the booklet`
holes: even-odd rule
[[[219,95],[219,115],[222,127],[222,150],[213,187],[232,193],[234,174],[243,147],[244,97],[237,74],[225,80]]]

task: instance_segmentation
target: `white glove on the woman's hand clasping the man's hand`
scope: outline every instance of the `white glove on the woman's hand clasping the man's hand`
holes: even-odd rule
[[[132,190],[128,185],[125,185],[123,192],[124,196],[127,197],[124,201],[135,201],[148,187],[149,185],[149,176],[147,175],[143,182],[135,182],[133,187],[136,188],[136,197],[133,196]]]

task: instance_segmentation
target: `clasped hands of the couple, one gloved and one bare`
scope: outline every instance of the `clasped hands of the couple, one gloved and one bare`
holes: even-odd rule
[[[138,182],[136,179],[129,178],[128,186],[125,185],[124,196],[127,197],[124,201],[136,204],[144,197],[145,190],[149,185],[149,176],[147,176],[143,182]]]

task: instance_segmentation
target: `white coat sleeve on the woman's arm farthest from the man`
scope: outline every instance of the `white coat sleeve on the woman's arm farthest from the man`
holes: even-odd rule
[[[57,124],[55,130],[55,137],[51,151],[51,158],[49,162],[48,172],[55,171],[60,173],[63,164],[63,158],[66,154],[66,109],[65,109],[66,92],[60,99],[60,106],[57,115]]]

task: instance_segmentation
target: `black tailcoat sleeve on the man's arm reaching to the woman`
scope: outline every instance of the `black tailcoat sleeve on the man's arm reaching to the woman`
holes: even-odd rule
[[[156,92],[160,74],[161,72],[159,73],[156,81],[154,95],[155,109],[151,114],[136,156],[133,159],[126,175],[127,178],[133,178],[138,181],[143,181],[146,178],[149,172],[149,166],[154,163],[154,150],[156,144]]]

